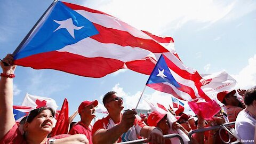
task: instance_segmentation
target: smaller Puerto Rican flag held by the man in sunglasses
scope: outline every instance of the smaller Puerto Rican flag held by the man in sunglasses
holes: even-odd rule
[[[202,77],[197,71],[184,66],[173,54],[168,58],[161,55],[146,85],[188,101],[194,113],[205,119],[217,114],[220,107],[201,90]]]

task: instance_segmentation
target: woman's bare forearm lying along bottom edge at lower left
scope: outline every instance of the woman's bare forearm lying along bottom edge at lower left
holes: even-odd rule
[[[86,138],[84,134],[75,134],[75,135],[70,135],[69,137],[66,137],[66,138],[56,139],[54,141],[54,144],[73,144],[73,143],[89,144],[89,140]]]

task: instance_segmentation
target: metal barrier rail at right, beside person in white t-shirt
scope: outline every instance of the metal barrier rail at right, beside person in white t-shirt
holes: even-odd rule
[[[191,132],[188,133],[188,138],[190,139],[189,144],[191,144],[191,135],[194,133],[199,133],[199,132],[205,132],[205,131],[210,131],[210,130],[214,130],[214,129],[224,129],[230,133],[231,135],[234,135],[232,132],[230,132],[229,130],[227,130],[227,127],[225,126],[230,126],[230,125],[235,125],[235,122],[230,122],[230,123],[224,123],[222,125],[216,125],[216,126],[209,126],[209,127],[205,127],[202,129],[197,129],[197,130],[193,130]],[[235,141],[235,142],[231,142],[231,143],[239,143],[239,141]]]

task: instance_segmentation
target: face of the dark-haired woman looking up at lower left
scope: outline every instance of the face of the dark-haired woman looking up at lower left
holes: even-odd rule
[[[38,114],[31,123],[26,123],[25,131],[33,134],[49,134],[52,131],[53,115],[51,110],[45,109]]]

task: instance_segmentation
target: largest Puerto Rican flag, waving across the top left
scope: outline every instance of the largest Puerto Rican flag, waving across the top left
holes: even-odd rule
[[[55,2],[26,42],[15,65],[103,77],[129,68],[150,75],[161,53],[174,53],[171,37],[159,37],[87,7]]]

